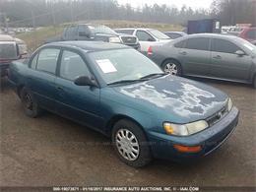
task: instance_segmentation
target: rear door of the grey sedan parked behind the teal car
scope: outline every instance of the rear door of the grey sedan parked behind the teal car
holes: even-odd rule
[[[185,47],[178,52],[184,75],[208,76],[210,73],[210,38],[187,38]]]

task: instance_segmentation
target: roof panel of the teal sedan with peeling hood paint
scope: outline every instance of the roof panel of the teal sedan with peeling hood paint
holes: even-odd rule
[[[85,40],[76,40],[76,41],[58,41],[47,43],[47,45],[53,46],[62,46],[62,47],[76,47],[81,48],[86,51],[100,51],[100,50],[108,50],[108,49],[122,49],[122,48],[130,48],[129,46],[119,44],[119,43],[109,43],[102,41],[85,41]]]

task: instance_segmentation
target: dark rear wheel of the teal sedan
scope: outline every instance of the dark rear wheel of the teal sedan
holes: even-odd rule
[[[23,88],[21,91],[21,100],[24,111],[29,117],[35,118],[41,113],[41,109],[32,92],[28,88]]]

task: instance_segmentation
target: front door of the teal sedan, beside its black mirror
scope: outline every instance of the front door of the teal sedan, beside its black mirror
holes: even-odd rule
[[[60,115],[100,127],[99,89],[75,85],[74,80],[80,76],[92,77],[83,56],[63,50],[56,79],[56,110]]]

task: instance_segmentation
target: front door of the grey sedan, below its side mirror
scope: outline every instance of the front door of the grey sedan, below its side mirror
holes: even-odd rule
[[[212,77],[238,81],[247,81],[249,79],[249,71],[252,65],[251,56],[235,54],[237,50],[244,52],[242,48],[229,40],[213,38],[211,50]]]

